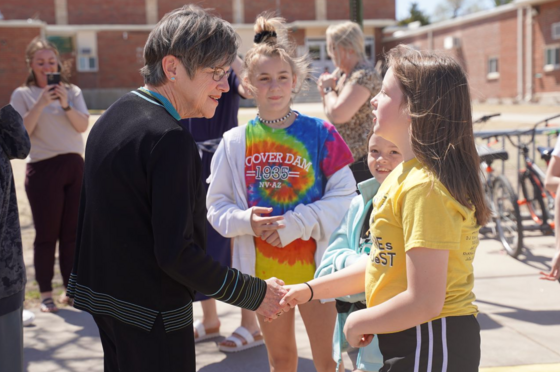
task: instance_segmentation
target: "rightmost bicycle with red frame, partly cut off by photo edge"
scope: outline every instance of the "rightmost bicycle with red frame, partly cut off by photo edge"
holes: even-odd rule
[[[549,192],[544,187],[545,173],[535,164],[534,160],[529,157],[529,144],[534,143],[537,127],[544,124],[548,127],[548,123],[552,119],[556,119],[560,115],[551,116],[539,121],[533,125],[528,131],[517,134],[518,143],[515,143],[511,135],[505,134],[508,141],[519,150],[520,156],[523,158],[525,168],[519,170],[518,182],[521,186],[523,199],[518,204],[527,206],[530,218],[537,224],[538,229],[545,235],[554,235],[554,198],[556,195]],[[520,136],[530,134],[528,142],[521,142]],[[550,149],[546,147],[537,147],[541,158],[546,161],[550,160]]]

